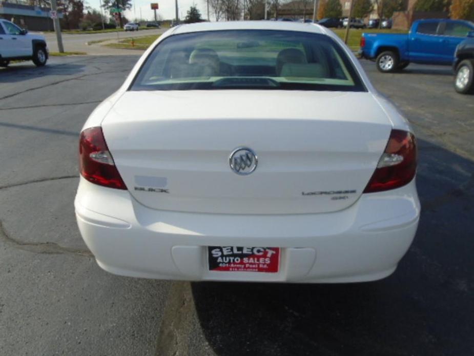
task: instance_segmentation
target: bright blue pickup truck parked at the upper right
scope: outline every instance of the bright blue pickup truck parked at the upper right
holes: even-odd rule
[[[363,33],[359,54],[375,60],[383,73],[402,70],[410,63],[452,65],[456,47],[473,31],[469,21],[418,20],[408,34]]]

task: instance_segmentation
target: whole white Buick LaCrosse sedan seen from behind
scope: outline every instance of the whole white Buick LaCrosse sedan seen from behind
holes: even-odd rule
[[[410,126],[314,24],[170,29],[90,115],[79,160],[80,233],[121,275],[378,280],[420,215]]]

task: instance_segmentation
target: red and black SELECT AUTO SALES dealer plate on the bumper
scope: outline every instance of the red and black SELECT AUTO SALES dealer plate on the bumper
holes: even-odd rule
[[[210,271],[276,273],[279,247],[208,246]]]

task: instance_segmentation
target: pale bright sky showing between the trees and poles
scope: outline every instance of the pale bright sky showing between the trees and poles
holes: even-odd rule
[[[141,17],[143,20],[152,21],[154,19],[153,10],[150,9],[151,3],[158,3],[159,9],[156,10],[156,14],[161,15],[163,19],[171,19],[175,17],[175,2],[174,0],[162,0],[162,1],[146,1],[146,0],[132,0],[131,10],[125,11],[125,17],[133,21],[135,17],[140,18],[140,9]],[[97,10],[100,9],[99,0],[88,0],[87,4]],[[207,7],[204,0],[178,0],[178,14],[180,18],[186,17],[186,14],[191,6],[196,5],[198,10],[201,12],[202,18],[207,18]]]

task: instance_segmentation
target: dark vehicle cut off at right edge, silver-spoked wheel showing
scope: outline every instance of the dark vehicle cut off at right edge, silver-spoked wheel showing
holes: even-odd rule
[[[474,31],[456,48],[455,89],[461,94],[474,93]]]

